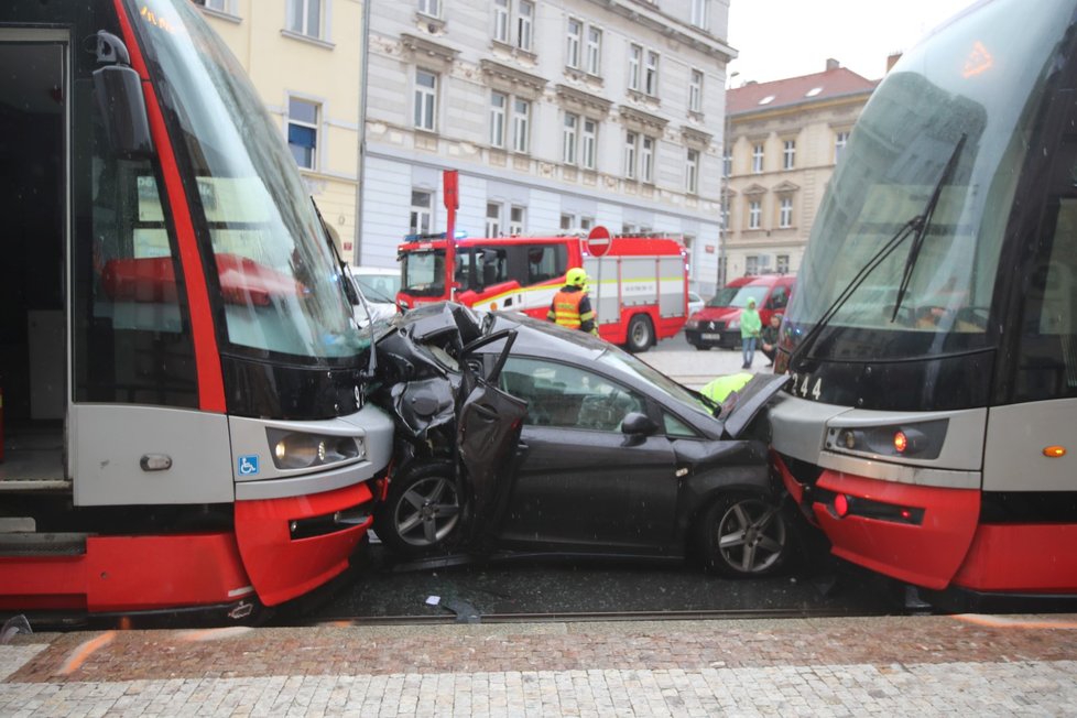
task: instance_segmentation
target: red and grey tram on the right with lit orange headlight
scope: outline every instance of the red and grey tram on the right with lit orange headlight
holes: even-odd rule
[[[777,474],[937,605],[1077,596],[1077,2],[987,0],[882,80],[782,329]]]

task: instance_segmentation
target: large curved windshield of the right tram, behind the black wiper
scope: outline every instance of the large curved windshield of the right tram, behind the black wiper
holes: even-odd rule
[[[916,218],[926,219],[918,253],[909,232],[809,353],[902,359],[986,344],[1018,170],[1071,15],[1071,1],[1030,13],[1023,0],[994,0],[902,57],[858,120],[813,227],[787,312],[794,346]]]

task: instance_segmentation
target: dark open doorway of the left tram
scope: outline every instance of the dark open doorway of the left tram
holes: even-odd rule
[[[65,482],[67,33],[0,29],[0,479]]]

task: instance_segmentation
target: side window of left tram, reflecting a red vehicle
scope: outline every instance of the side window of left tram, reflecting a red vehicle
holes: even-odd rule
[[[197,406],[191,322],[156,160],[119,156],[94,108],[76,128],[76,401]],[[78,150],[76,150],[78,151]]]

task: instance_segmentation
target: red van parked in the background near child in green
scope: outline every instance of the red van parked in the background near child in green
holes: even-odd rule
[[[783,313],[796,278],[792,274],[763,274],[732,280],[707,302],[699,312],[688,317],[684,336],[696,349],[711,347],[732,349],[740,346],[740,312],[755,300],[763,326],[774,313]]]

